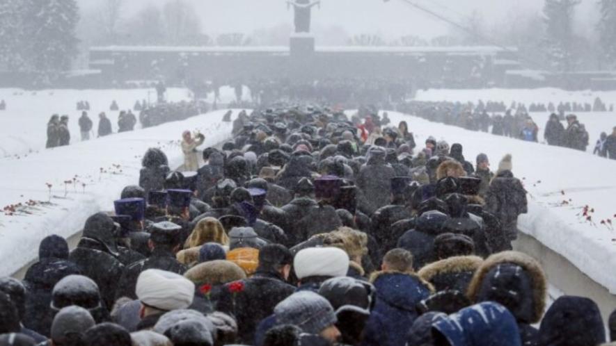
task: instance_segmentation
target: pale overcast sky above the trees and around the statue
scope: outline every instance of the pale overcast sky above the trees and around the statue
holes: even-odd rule
[[[84,11],[93,10],[106,0],[78,0]],[[127,17],[143,6],[161,6],[168,0],[124,0]],[[255,29],[292,23],[292,10],[285,0],[186,0],[193,3],[203,20],[207,34],[230,32],[251,33]],[[456,22],[477,11],[486,18],[487,26],[498,24],[507,15],[542,10],[542,0],[411,0]],[[592,30],[597,0],[583,0],[578,8],[580,30]],[[447,24],[412,8],[402,0],[322,0],[313,12],[313,25],[319,28],[340,26],[350,34],[379,33],[388,38],[414,34],[433,38],[448,33]]]

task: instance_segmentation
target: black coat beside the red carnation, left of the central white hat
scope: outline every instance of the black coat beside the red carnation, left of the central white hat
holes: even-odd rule
[[[295,292],[278,274],[256,272],[250,279],[244,279],[244,290],[231,293],[229,285],[224,286],[216,310],[230,313],[237,320],[239,343],[252,344],[257,324],[274,313],[274,307]]]

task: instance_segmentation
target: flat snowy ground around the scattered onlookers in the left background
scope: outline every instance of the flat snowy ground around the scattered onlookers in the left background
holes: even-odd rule
[[[133,108],[135,101],[144,100],[154,103],[156,90],[150,89],[120,89],[120,90],[22,90],[0,89],[0,100],[5,100],[6,110],[0,110],[0,158],[6,156],[27,156],[33,152],[45,150],[47,140],[47,122],[52,114],[69,116],[69,131],[71,143],[81,140],[79,124],[81,111],[77,110],[78,101],[88,101],[90,111],[88,116],[93,121],[93,131],[98,129],[98,114],[106,113],[113,132],[118,131],[119,111],[109,110],[111,101],[116,100],[120,110]],[[250,97],[250,92],[244,87],[244,97]],[[168,88],[168,101],[183,101],[193,98],[191,92],[183,88]],[[212,103],[214,93],[210,92],[205,101]],[[224,86],[220,90],[219,105],[235,101],[233,88]],[[135,112],[135,115],[139,115]],[[135,126],[141,129],[139,122]],[[90,135],[91,138],[91,135]]]

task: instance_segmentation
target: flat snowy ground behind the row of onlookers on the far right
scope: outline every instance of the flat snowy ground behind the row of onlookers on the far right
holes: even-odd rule
[[[616,91],[567,91],[554,88],[540,89],[477,89],[477,90],[452,90],[452,89],[429,89],[418,90],[416,100],[418,101],[471,101],[474,104],[478,100],[486,101],[503,101],[509,107],[512,102],[522,102],[528,107],[531,103],[553,102],[558,105],[562,102],[578,102],[589,103],[594,102],[595,97],[600,97],[601,100],[608,105],[616,105]],[[575,113],[575,112],[574,112]],[[578,120],[586,126],[586,130],[590,135],[590,145],[587,151],[592,152],[594,144],[599,139],[601,132],[606,132],[608,135],[612,132],[612,128],[616,126],[616,115],[613,112],[589,112],[575,113]],[[539,142],[544,142],[544,130],[546,122],[548,122],[549,112],[532,112],[530,116],[539,126]],[[563,122],[563,124],[565,124]]]

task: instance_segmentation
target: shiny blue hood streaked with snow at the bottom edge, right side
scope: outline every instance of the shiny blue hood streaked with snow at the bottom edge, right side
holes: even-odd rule
[[[521,346],[514,316],[500,304],[484,302],[432,323],[451,346]],[[434,333],[434,331],[433,331]],[[434,334],[433,334],[434,335]]]

